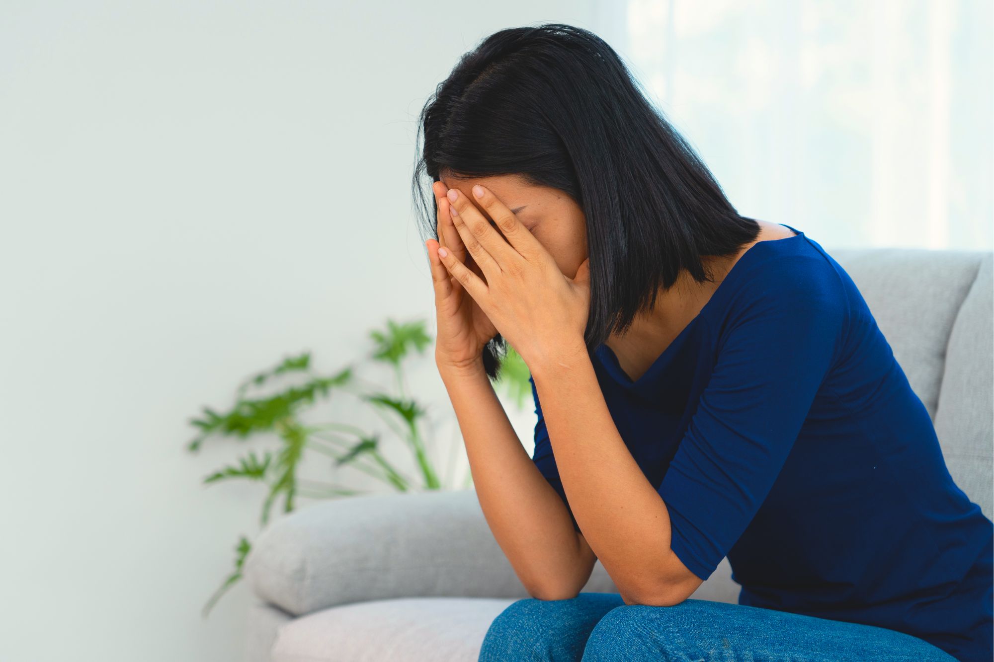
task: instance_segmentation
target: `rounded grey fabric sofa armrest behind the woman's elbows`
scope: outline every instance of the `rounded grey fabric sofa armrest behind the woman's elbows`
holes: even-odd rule
[[[266,528],[245,573],[293,615],[394,597],[528,597],[472,489],[315,503]],[[598,562],[583,590],[617,588]]]

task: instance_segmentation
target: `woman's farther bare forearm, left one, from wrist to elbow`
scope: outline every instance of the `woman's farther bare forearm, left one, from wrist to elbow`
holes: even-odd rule
[[[576,594],[592,563],[581,554],[566,505],[528,456],[482,366],[439,367],[439,374],[462,431],[480,507],[515,573],[537,597]]]

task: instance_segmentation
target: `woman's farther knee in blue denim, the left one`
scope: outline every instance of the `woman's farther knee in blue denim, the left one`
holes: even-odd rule
[[[624,600],[617,593],[580,593],[563,600],[527,597],[509,604],[490,624],[480,662],[576,662],[590,630]]]

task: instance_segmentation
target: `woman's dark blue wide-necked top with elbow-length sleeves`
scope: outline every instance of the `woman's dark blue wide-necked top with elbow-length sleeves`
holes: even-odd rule
[[[606,345],[590,354],[673,552],[701,579],[727,556],[740,604],[990,662],[994,524],[949,475],[849,274],[785,227],[795,235],[748,248],[635,382]],[[532,393],[533,460],[569,508]]]

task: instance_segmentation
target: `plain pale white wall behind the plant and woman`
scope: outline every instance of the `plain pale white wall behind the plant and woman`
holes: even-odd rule
[[[337,370],[388,316],[433,333],[421,103],[495,30],[603,17],[565,0],[0,4],[0,659],[241,658],[245,586],[199,610],[260,494],[200,484],[236,448],[190,455],[187,418],[288,353]]]

